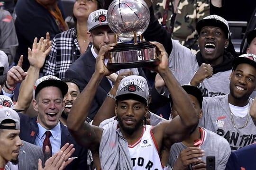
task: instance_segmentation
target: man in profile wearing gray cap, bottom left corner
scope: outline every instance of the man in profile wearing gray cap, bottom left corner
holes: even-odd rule
[[[0,106],[0,170],[4,170],[8,161],[18,163],[19,149],[23,145],[19,132],[18,113]]]

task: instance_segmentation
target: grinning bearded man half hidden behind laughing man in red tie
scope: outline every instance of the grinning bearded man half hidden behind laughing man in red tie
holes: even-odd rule
[[[64,110],[61,114],[60,121],[67,125],[67,117],[70,112],[70,109],[73,106],[73,102],[77,98],[77,96],[80,94],[80,89],[77,83],[69,78],[62,79],[63,82],[65,82],[68,85],[68,92],[64,95],[63,98],[63,104],[64,104]]]

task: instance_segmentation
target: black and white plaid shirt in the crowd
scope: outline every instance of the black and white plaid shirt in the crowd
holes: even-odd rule
[[[90,46],[90,44],[89,44]],[[52,42],[51,53],[46,58],[44,75],[65,77],[65,71],[80,57],[76,28],[57,34]]]

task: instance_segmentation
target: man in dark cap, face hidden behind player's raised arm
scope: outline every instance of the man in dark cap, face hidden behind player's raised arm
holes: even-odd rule
[[[192,85],[182,85],[189,94],[191,101],[202,118],[202,93]],[[177,116],[176,108],[172,108],[172,119]],[[214,149],[212,149],[214,148]],[[198,156],[202,154],[201,156]],[[175,143],[171,147],[168,164],[173,170],[185,170],[206,168],[207,156],[215,157],[215,169],[225,170],[230,155],[230,146],[226,139],[216,133],[197,126],[182,142]],[[200,158],[200,159],[198,159]]]

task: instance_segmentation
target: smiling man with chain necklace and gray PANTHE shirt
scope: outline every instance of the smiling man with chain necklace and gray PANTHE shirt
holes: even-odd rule
[[[256,55],[234,59],[229,79],[229,94],[204,98],[200,126],[226,138],[235,151],[256,142],[256,127],[249,113],[250,95],[256,90]]]

